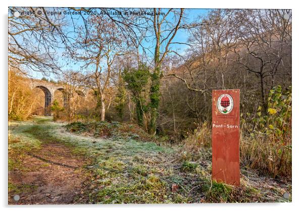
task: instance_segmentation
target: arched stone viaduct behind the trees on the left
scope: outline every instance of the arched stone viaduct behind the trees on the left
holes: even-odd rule
[[[60,90],[63,92],[63,102],[64,106],[67,104],[67,96],[65,94],[65,88],[61,84],[53,83],[53,82],[47,82],[44,80],[31,80],[30,86],[32,89],[34,88],[40,88],[44,92],[44,116],[50,116],[50,105],[52,104],[54,100],[54,94],[55,91]],[[86,89],[79,88],[76,92],[81,95],[86,95]]]

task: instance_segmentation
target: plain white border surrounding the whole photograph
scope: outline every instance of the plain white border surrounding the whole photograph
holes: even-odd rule
[[[293,211],[301,208],[303,202],[303,73],[304,64],[302,63],[303,46],[303,8],[300,1],[197,1],[197,0],[154,0],[154,1],[96,1],[96,0],[73,0],[73,1],[39,1],[39,0],[10,0],[1,2],[1,129],[2,129],[2,175],[1,175],[1,201],[4,211]],[[271,8],[271,9],[292,9],[292,25],[293,25],[293,49],[292,49],[292,84],[293,84],[293,119],[292,119],[292,203],[236,203],[236,204],[141,204],[141,205],[44,205],[44,206],[8,206],[7,205],[7,179],[8,179],[8,157],[7,157],[7,134],[8,134],[8,7],[9,6],[43,6],[43,7],[162,7],[162,8]]]

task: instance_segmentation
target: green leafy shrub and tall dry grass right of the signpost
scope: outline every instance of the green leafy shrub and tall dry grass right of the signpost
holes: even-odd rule
[[[273,177],[291,176],[291,87],[270,90],[267,114],[261,110],[252,126],[241,120],[241,162]]]

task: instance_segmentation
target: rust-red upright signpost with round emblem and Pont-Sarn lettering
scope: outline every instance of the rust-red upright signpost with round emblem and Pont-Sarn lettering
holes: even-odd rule
[[[212,179],[240,184],[239,89],[212,91]]]

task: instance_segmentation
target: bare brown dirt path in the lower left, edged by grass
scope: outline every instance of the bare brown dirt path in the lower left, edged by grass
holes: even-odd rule
[[[39,150],[22,159],[24,169],[9,172],[9,181],[17,186],[20,200],[9,195],[9,204],[73,204],[85,180],[80,156],[59,143],[44,143]]]

